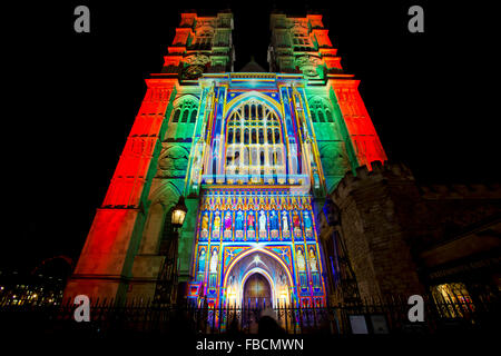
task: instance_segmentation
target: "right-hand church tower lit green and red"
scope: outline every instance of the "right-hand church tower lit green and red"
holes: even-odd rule
[[[386,160],[360,96],[360,81],[343,70],[322,14],[272,13],[271,30],[269,70],[302,73],[308,83],[308,107],[327,189],[332,191],[350,168]]]

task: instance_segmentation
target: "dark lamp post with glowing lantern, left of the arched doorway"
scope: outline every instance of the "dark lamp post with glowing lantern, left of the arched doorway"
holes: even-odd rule
[[[165,224],[164,236],[160,243],[160,255],[165,256],[164,267],[159,274],[157,283],[157,290],[155,293],[155,300],[161,304],[173,304],[177,301],[178,290],[178,245],[179,233],[178,229],[185,222],[186,212],[188,208],[185,205],[185,197],[180,196],[177,204],[174,206],[170,214],[170,225]],[[168,217],[166,217],[167,220]],[[168,229],[171,226],[173,230]]]

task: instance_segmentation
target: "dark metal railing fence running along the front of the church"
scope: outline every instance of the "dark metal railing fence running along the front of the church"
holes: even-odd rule
[[[412,305],[404,298],[364,300],[324,308],[190,307],[157,306],[132,300],[96,300],[90,322],[77,323],[76,306],[0,303],[3,328],[45,334],[85,332],[110,334],[434,334],[458,330],[491,330],[498,325],[500,305],[490,300],[436,303],[424,298],[424,322],[411,322]]]

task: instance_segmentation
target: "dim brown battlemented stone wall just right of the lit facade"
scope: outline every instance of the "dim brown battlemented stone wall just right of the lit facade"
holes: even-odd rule
[[[399,164],[372,167],[348,172],[333,194],[361,297],[422,294],[410,247],[423,210],[414,177]]]

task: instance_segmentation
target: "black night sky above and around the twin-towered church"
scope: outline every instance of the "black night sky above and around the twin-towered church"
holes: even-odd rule
[[[493,9],[440,1],[65,1],[3,12],[3,191],[0,267],[30,270],[43,258],[77,258],[183,9],[234,12],[235,69],[267,67],[269,11],[324,14],[390,159],[423,182],[500,181],[494,110],[499,37]],[[185,4],[180,7],[178,4]],[[73,9],[90,9],[90,33]],[[424,8],[424,33],[407,9]],[[209,8],[208,8],[209,7]]]

